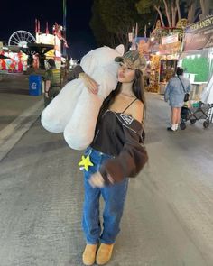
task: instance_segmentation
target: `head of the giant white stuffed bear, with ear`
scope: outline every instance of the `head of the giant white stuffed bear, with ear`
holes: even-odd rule
[[[107,46],[89,51],[81,60],[81,67],[88,74],[92,74],[94,69],[105,67],[109,64],[116,64],[115,58],[124,54],[124,46],[119,45],[116,49]]]

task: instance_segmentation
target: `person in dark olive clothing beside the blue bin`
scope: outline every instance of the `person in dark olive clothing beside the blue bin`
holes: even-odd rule
[[[61,72],[56,69],[55,61],[49,59],[49,69],[45,72],[45,87],[44,87],[44,106],[51,103],[51,100],[60,93],[61,87]]]

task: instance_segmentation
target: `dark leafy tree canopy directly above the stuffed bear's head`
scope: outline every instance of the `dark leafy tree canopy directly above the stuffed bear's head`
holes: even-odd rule
[[[91,28],[98,44],[111,43],[111,47],[123,43],[128,49],[128,33],[132,32],[133,24],[139,24],[142,32],[147,21],[153,20],[153,14],[138,14],[135,7],[137,0],[95,0]],[[144,30],[143,30],[144,32]]]

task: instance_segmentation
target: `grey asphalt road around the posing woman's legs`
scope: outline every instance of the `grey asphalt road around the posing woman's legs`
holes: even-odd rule
[[[165,130],[170,109],[148,94],[149,163],[130,180],[109,266],[213,265],[212,124]],[[39,120],[0,162],[0,266],[81,266],[80,151]]]

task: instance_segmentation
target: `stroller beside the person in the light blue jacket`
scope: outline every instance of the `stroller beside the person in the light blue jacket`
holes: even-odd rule
[[[181,107],[181,130],[186,128],[186,122],[190,121],[190,124],[195,124],[198,120],[204,120],[203,127],[207,128],[212,122],[212,107],[213,104],[204,104],[199,102],[194,104],[193,107],[188,108],[185,106]]]

